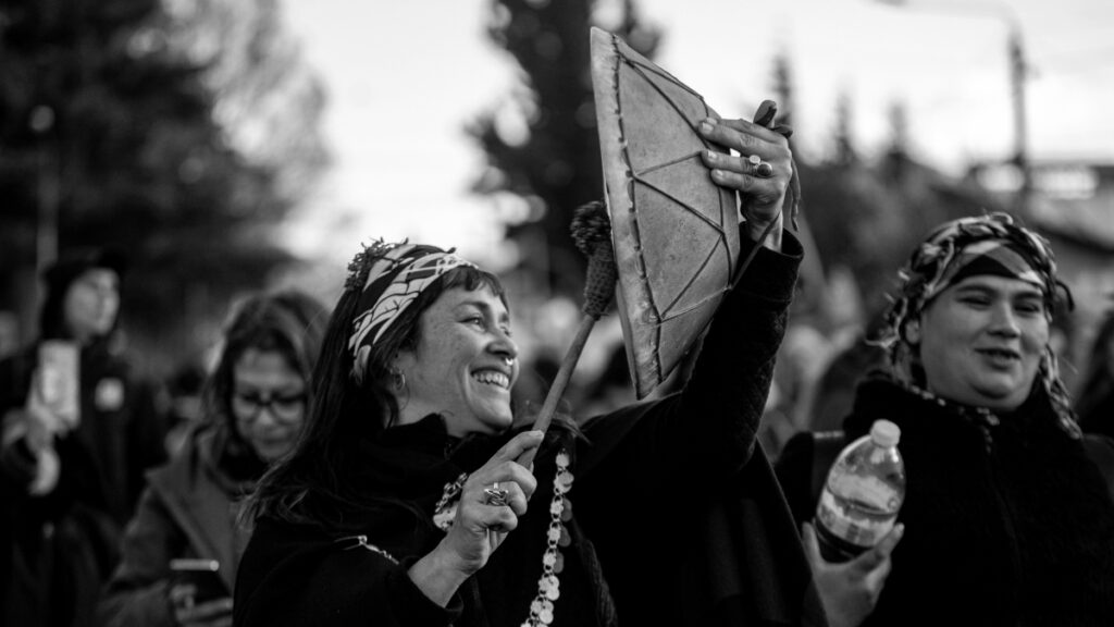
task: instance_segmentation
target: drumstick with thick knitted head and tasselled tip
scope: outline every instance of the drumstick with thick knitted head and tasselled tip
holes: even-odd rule
[[[607,218],[607,208],[599,201],[589,202],[576,210],[573,216],[573,239],[576,248],[588,258],[588,274],[584,284],[584,305],[580,311],[580,326],[573,338],[573,344],[565,353],[565,358],[560,363],[557,376],[549,386],[546,402],[541,405],[538,417],[534,421],[534,428],[545,433],[549,428],[554,413],[557,411],[557,403],[565,394],[565,388],[573,376],[577,360],[584,345],[588,341],[588,334],[596,320],[604,315],[612,298],[615,296],[615,281],[618,280],[618,270],[615,268],[615,251],[612,248],[612,223]],[[529,467],[534,463],[534,453],[537,448],[531,448],[519,457],[518,463]]]

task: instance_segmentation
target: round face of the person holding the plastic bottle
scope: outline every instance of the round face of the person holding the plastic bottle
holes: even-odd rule
[[[930,392],[1004,412],[1028,397],[1048,338],[1037,287],[983,274],[944,290],[909,329]]]

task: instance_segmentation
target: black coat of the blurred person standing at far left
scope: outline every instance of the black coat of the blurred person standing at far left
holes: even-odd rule
[[[56,438],[61,472],[28,493],[35,462],[22,440],[0,450],[0,617],[6,625],[91,625],[116,565],[120,530],[166,460],[154,388],[104,343],[81,350],[79,426]],[[36,347],[0,361],[0,415],[23,406]]]

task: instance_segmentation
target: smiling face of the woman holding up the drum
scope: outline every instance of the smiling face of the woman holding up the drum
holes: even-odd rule
[[[502,300],[487,287],[453,288],[422,311],[418,327],[418,346],[394,360],[404,378],[394,389],[399,424],[436,413],[456,436],[509,427],[518,347]]]

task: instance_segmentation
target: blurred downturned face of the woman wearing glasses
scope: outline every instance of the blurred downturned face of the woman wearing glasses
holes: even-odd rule
[[[273,462],[294,445],[305,421],[305,379],[277,350],[248,348],[232,370],[232,414],[255,454]]]

